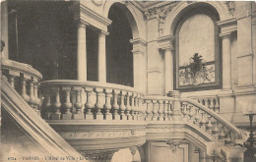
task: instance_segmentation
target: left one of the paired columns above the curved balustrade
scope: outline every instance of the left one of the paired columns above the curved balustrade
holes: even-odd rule
[[[87,30],[86,24],[78,23],[77,72],[79,81],[87,81]]]

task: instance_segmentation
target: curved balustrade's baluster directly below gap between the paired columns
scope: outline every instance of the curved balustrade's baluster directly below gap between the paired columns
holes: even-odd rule
[[[93,95],[93,87],[86,87],[87,92],[87,103],[86,103],[86,110],[85,110],[85,118],[89,120],[94,119],[94,115],[92,113],[92,109],[94,108],[94,104],[92,103],[92,95]]]

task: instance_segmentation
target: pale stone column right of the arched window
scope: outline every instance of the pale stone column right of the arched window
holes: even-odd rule
[[[230,32],[221,33],[223,38],[223,88],[231,89],[231,47]]]

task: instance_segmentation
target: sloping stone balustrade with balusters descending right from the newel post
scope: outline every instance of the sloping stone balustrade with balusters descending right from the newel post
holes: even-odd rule
[[[217,140],[231,142],[241,138],[240,131],[217,113],[189,98],[181,99],[182,120],[200,127]]]

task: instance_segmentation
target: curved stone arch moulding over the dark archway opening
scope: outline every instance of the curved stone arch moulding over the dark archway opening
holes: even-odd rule
[[[139,27],[139,21],[136,17],[136,14],[133,10],[133,8],[130,5],[125,5],[126,2],[115,2],[115,1],[106,1],[103,7],[103,17],[108,18],[108,13],[112,5],[116,5],[119,9],[123,11],[125,14],[126,18],[129,21],[129,24],[132,28],[132,33],[133,33],[133,39],[139,38],[140,37],[140,31],[139,29],[142,27]]]

